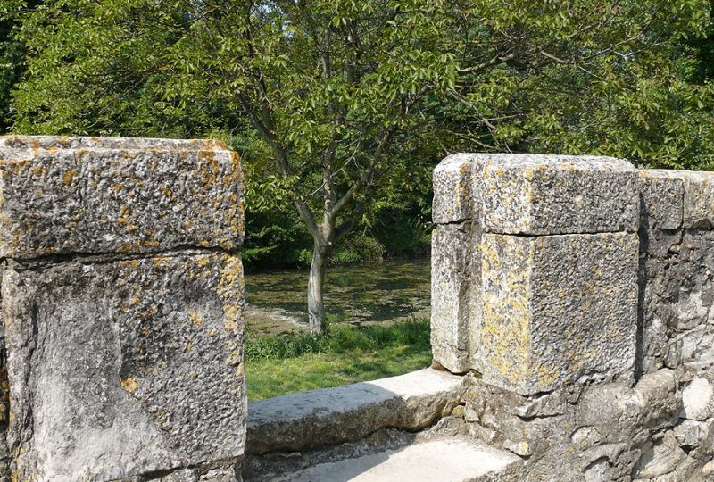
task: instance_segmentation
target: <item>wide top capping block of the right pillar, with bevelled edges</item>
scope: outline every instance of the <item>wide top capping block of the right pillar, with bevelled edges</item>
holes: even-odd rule
[[[483,154],[475,173],[485,232],[552,235],[635,232],[638,177],[609,157]]]

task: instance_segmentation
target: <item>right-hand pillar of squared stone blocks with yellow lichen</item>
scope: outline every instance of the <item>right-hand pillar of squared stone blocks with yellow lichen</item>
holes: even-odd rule
[[[453,159],[435,172],[445,179],[435,180],[435,212],[465,212],[458,206],[470,197],[471,234],[447,239],[440,233],[449,228],[437,228],[436,362],[477,370],[486,383],[520,395],[577,381],[631,380],[639,209],[632,165],[602,157],[461,154],[459,171],[471,173],[467,188],[467,174],[443,174]],[[437,209],[437,201],[446,205]],[[457,218],[466,215],[436,221]],[[468,258],[461,264],[469,276],[440,285],[438,279],[459,272],[444,262],[453,251]],[[453,340],[466,340],[468,362]]]

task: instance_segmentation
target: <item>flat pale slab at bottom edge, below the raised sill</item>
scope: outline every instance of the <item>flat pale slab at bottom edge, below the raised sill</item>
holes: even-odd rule
[[[356,459],[321,463],[274,480],[292,482],[466,482],[498,480],[519,465],[512,453],[472,440],[448,438],[370,453]]]

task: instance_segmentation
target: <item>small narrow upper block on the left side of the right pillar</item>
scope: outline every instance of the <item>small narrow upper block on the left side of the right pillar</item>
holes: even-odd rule
[[[473,216],[473,167],[477,154],[452,154],[433,174],[432,220],[436,224],[470,220]]]

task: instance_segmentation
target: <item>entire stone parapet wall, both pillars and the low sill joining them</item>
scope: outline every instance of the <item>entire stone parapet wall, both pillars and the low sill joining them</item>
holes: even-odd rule
[[[714,174],[457,154],[434,180],[432,345],[461,376],[264,401],[255,479],[399,428],[517,459],[464,480],[714,478]],[[0,224],[0,480],[240,479],[237,155],[0,137]]]

